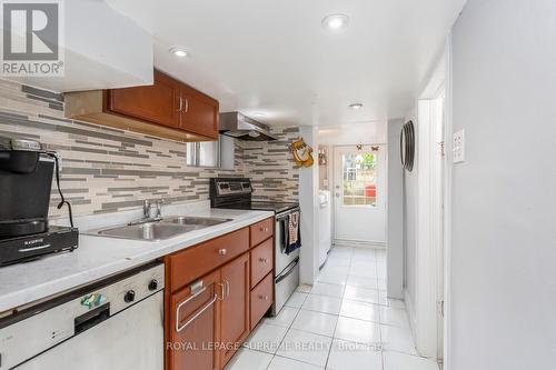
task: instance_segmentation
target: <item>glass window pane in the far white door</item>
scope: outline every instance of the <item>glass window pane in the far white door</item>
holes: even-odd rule
[[[377,206],[377,156],[373,152],[341,156],[344,206]]]

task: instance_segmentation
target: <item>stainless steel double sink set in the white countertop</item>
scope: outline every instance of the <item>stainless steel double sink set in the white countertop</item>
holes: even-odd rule
[[[159,221],[127,224],[121,227],[92,230],[85,232],[90,236],[132,239],[143,241],[160,241],[183,234],[193,230],[229,222],[232,219],[177,216]]]

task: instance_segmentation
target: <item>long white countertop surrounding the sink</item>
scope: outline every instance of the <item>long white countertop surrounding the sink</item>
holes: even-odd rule
[[[190,211],[187,216],[227,218],[232,221],[158,242],[80,234],[79,248],[73,252],[0,268],[0,312],[141,266],[261,221],[274,213],[206,209]]]

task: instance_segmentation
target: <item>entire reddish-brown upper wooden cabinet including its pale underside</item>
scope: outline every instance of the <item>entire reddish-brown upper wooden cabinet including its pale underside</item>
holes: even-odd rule
[[[151,86],[66,93],[66,117],[179,141],[218,138],[217,100],[155,71]]]

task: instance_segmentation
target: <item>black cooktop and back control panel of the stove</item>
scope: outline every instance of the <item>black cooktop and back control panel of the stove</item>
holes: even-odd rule
[[[295,202],[270,202],[252,200],[251,180],[246,178],[210,179],[210,206],[212,208],[271,211],[276,214],[298,209]]]

